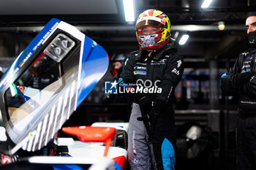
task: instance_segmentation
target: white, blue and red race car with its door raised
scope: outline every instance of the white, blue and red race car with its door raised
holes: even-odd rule
[[[83,131],[74,135],[83,142],[92,142],[84,139],[84,133],[107,134],[108,140],[98,139],[106,146],[54,137],[103,77],[108,63],[108,53],[97,42],[68,23],[50,20],[1,77],[1,169],[93,169],[97,165],[97,169],[124,169],[127,150],[110,147],[118,135],[116,128],[101,127],[110,132],[76,127]],[[60,146],[71,154],[59,154]],[[88,154],[87,149],[97,153],[102,147],[109,148],[109,153]]]

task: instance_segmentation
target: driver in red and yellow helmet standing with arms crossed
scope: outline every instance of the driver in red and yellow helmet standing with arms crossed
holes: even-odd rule
[[[173,93],[184,72],[183,58],[170,38],[170,20],[157,9],[136,23],[140,50],[129,53],[119,85],[132,93],[128,161],[131,169],[174,169],[176,126]]]

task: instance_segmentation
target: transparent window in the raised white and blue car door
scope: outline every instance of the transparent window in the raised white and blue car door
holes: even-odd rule
[[[33,117],[38,116],[34,111],[47,102],[61,84],[59,63],[45,52],[41,53],[5,93],[10,125],[16,131],[23,131]]]

